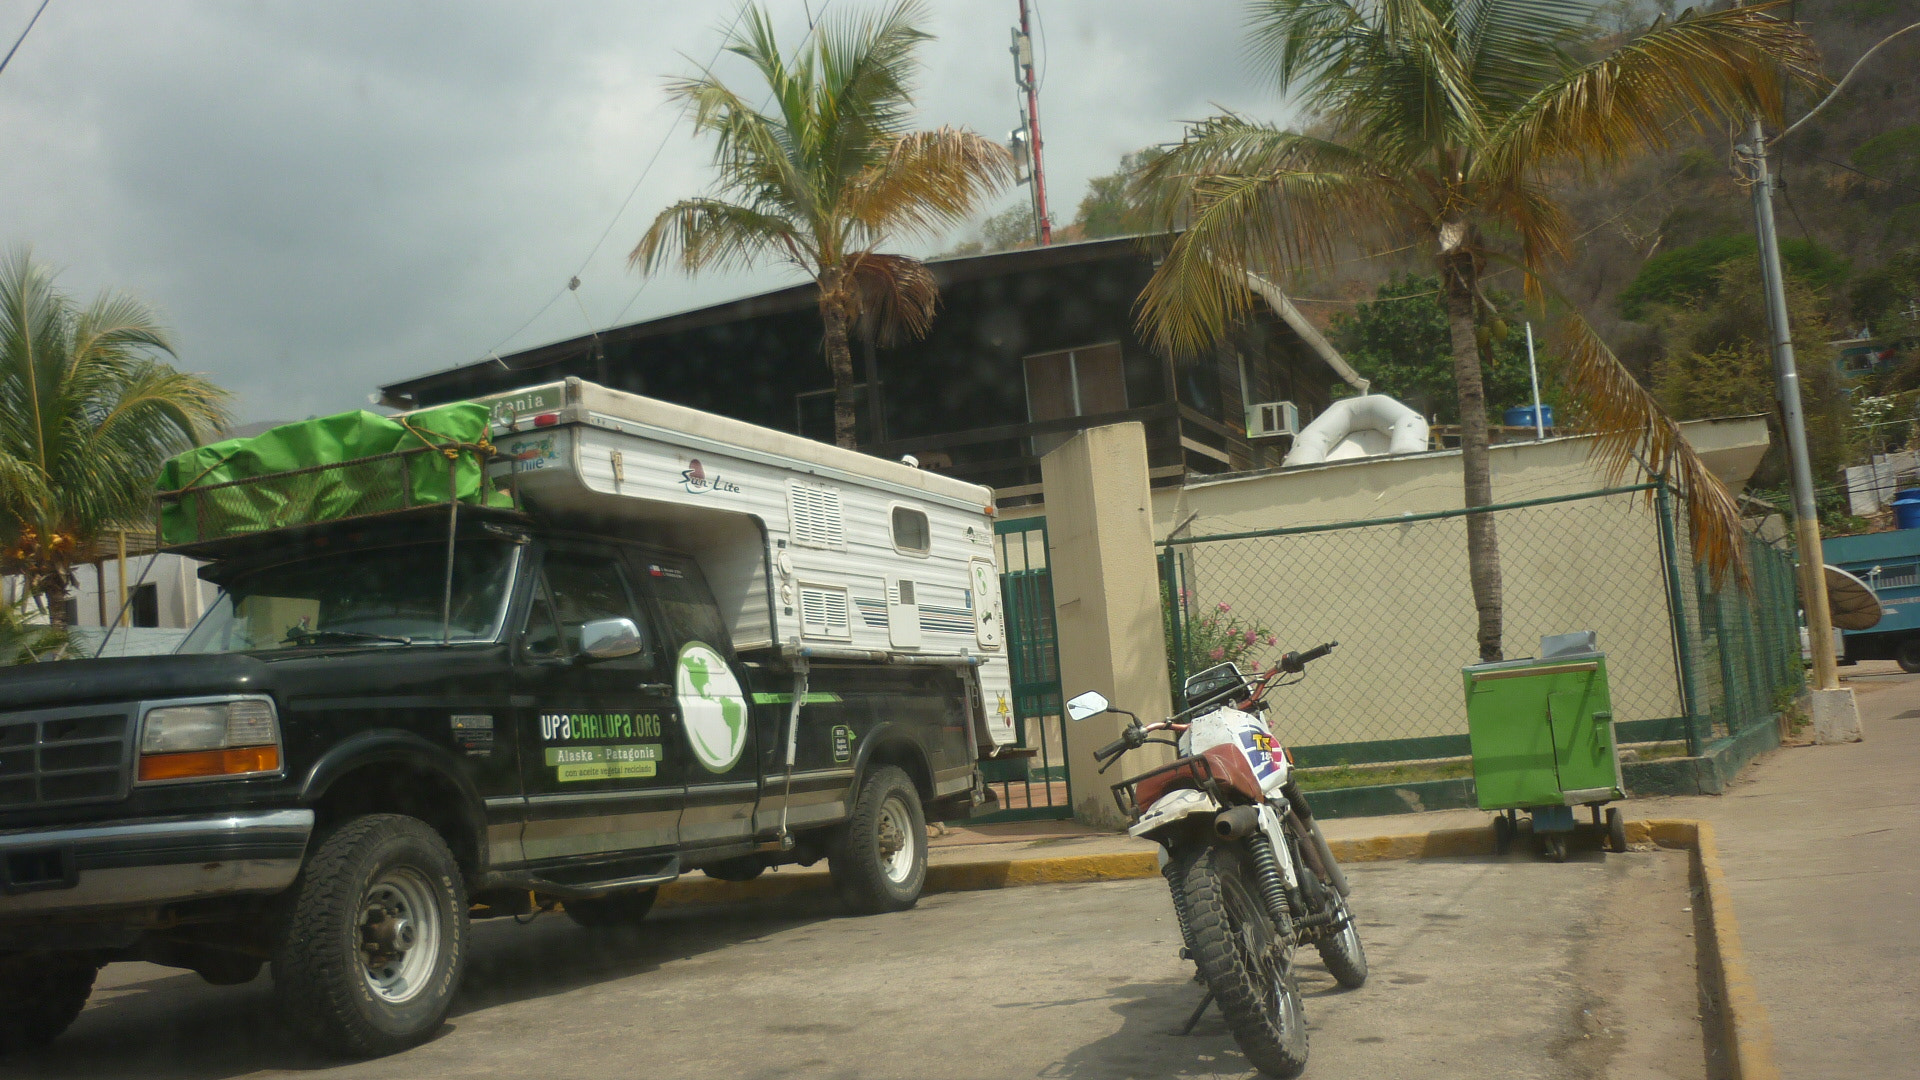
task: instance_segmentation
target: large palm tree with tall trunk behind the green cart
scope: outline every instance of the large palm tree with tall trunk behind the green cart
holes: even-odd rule
[[[1459,394],[1467,507],[1492,503],[1480,342],[1490,263],[1534,304],[1576,236],[1553,184],[1672,144],[1711,117],[1778,117],[1789,81],[1818,81],[1811,40],[1766,8],[1686,12],[1599,48],[1580,0],[1256,0],[1252,38],[1311,135],[1242,115],[1190,125],[1144,183],[1185,225],[1140,298],[1162,348],[1198,350],[1252,306],[1248,275],[1325,265],[1336,242],[1425,248],[1440,271]],[[1484,313],[1484,317],[1482,317]],[[1578,317],[1569,382],[1605,471],[1636,461],[1688,496],[1716,577],[1743,578],[1732,496]],[[1484,661],[1501,657],[1494,519],[1467,515]]]

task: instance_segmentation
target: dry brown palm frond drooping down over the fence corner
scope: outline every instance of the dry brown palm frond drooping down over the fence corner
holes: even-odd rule
[[[1594,434],[1594,459],[1609,482],[1644,469],[1665,477],[1686,496],[1693,557],[1713,573],[1715,586],[1728,578],[1751,584],[1740,503],[1680,434],[1680,425],[1653,394],[1613,356],[1594,327],[1569,313],[1559,327],[1567,356],[1567,388],[1578,402],[1574,425]]]

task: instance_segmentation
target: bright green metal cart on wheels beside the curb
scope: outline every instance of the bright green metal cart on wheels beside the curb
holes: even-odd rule
[[[1501,815],[1494,819],[1498,849],[1513,844],[1526,811],[1546,855],[1563,861],[1578,828],[1574,807],[1584,805],[1594,811],[1592,828],[1605,828],[1607,846],[1626,851],[1626,822],[1619,807],[1605,807],[1626,798],[1626,788],[1607,657],[1594,632],[1555,634],[1540,642],[1538,659],[1471,665],[1461,676],[1473,784],[1480,809]]]

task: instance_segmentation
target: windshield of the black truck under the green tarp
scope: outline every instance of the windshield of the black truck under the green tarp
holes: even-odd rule
[[[459,542],[451,640],[490,642],[499,634],[516,552],[499,540]],[[445,544],[399,544],[236,573],[179,651],[438,644],[445,571]]]

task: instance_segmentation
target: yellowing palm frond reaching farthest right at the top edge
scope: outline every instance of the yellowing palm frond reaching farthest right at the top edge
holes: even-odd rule
[[[1768,12],[1780,4],[1684,12],[1521,102],[1482,156],[1490,179],[1553,161],[1605,167],[1672,146],[1707,117],[1778,119],[1789,83],[1818,85],[1812,38]]]

